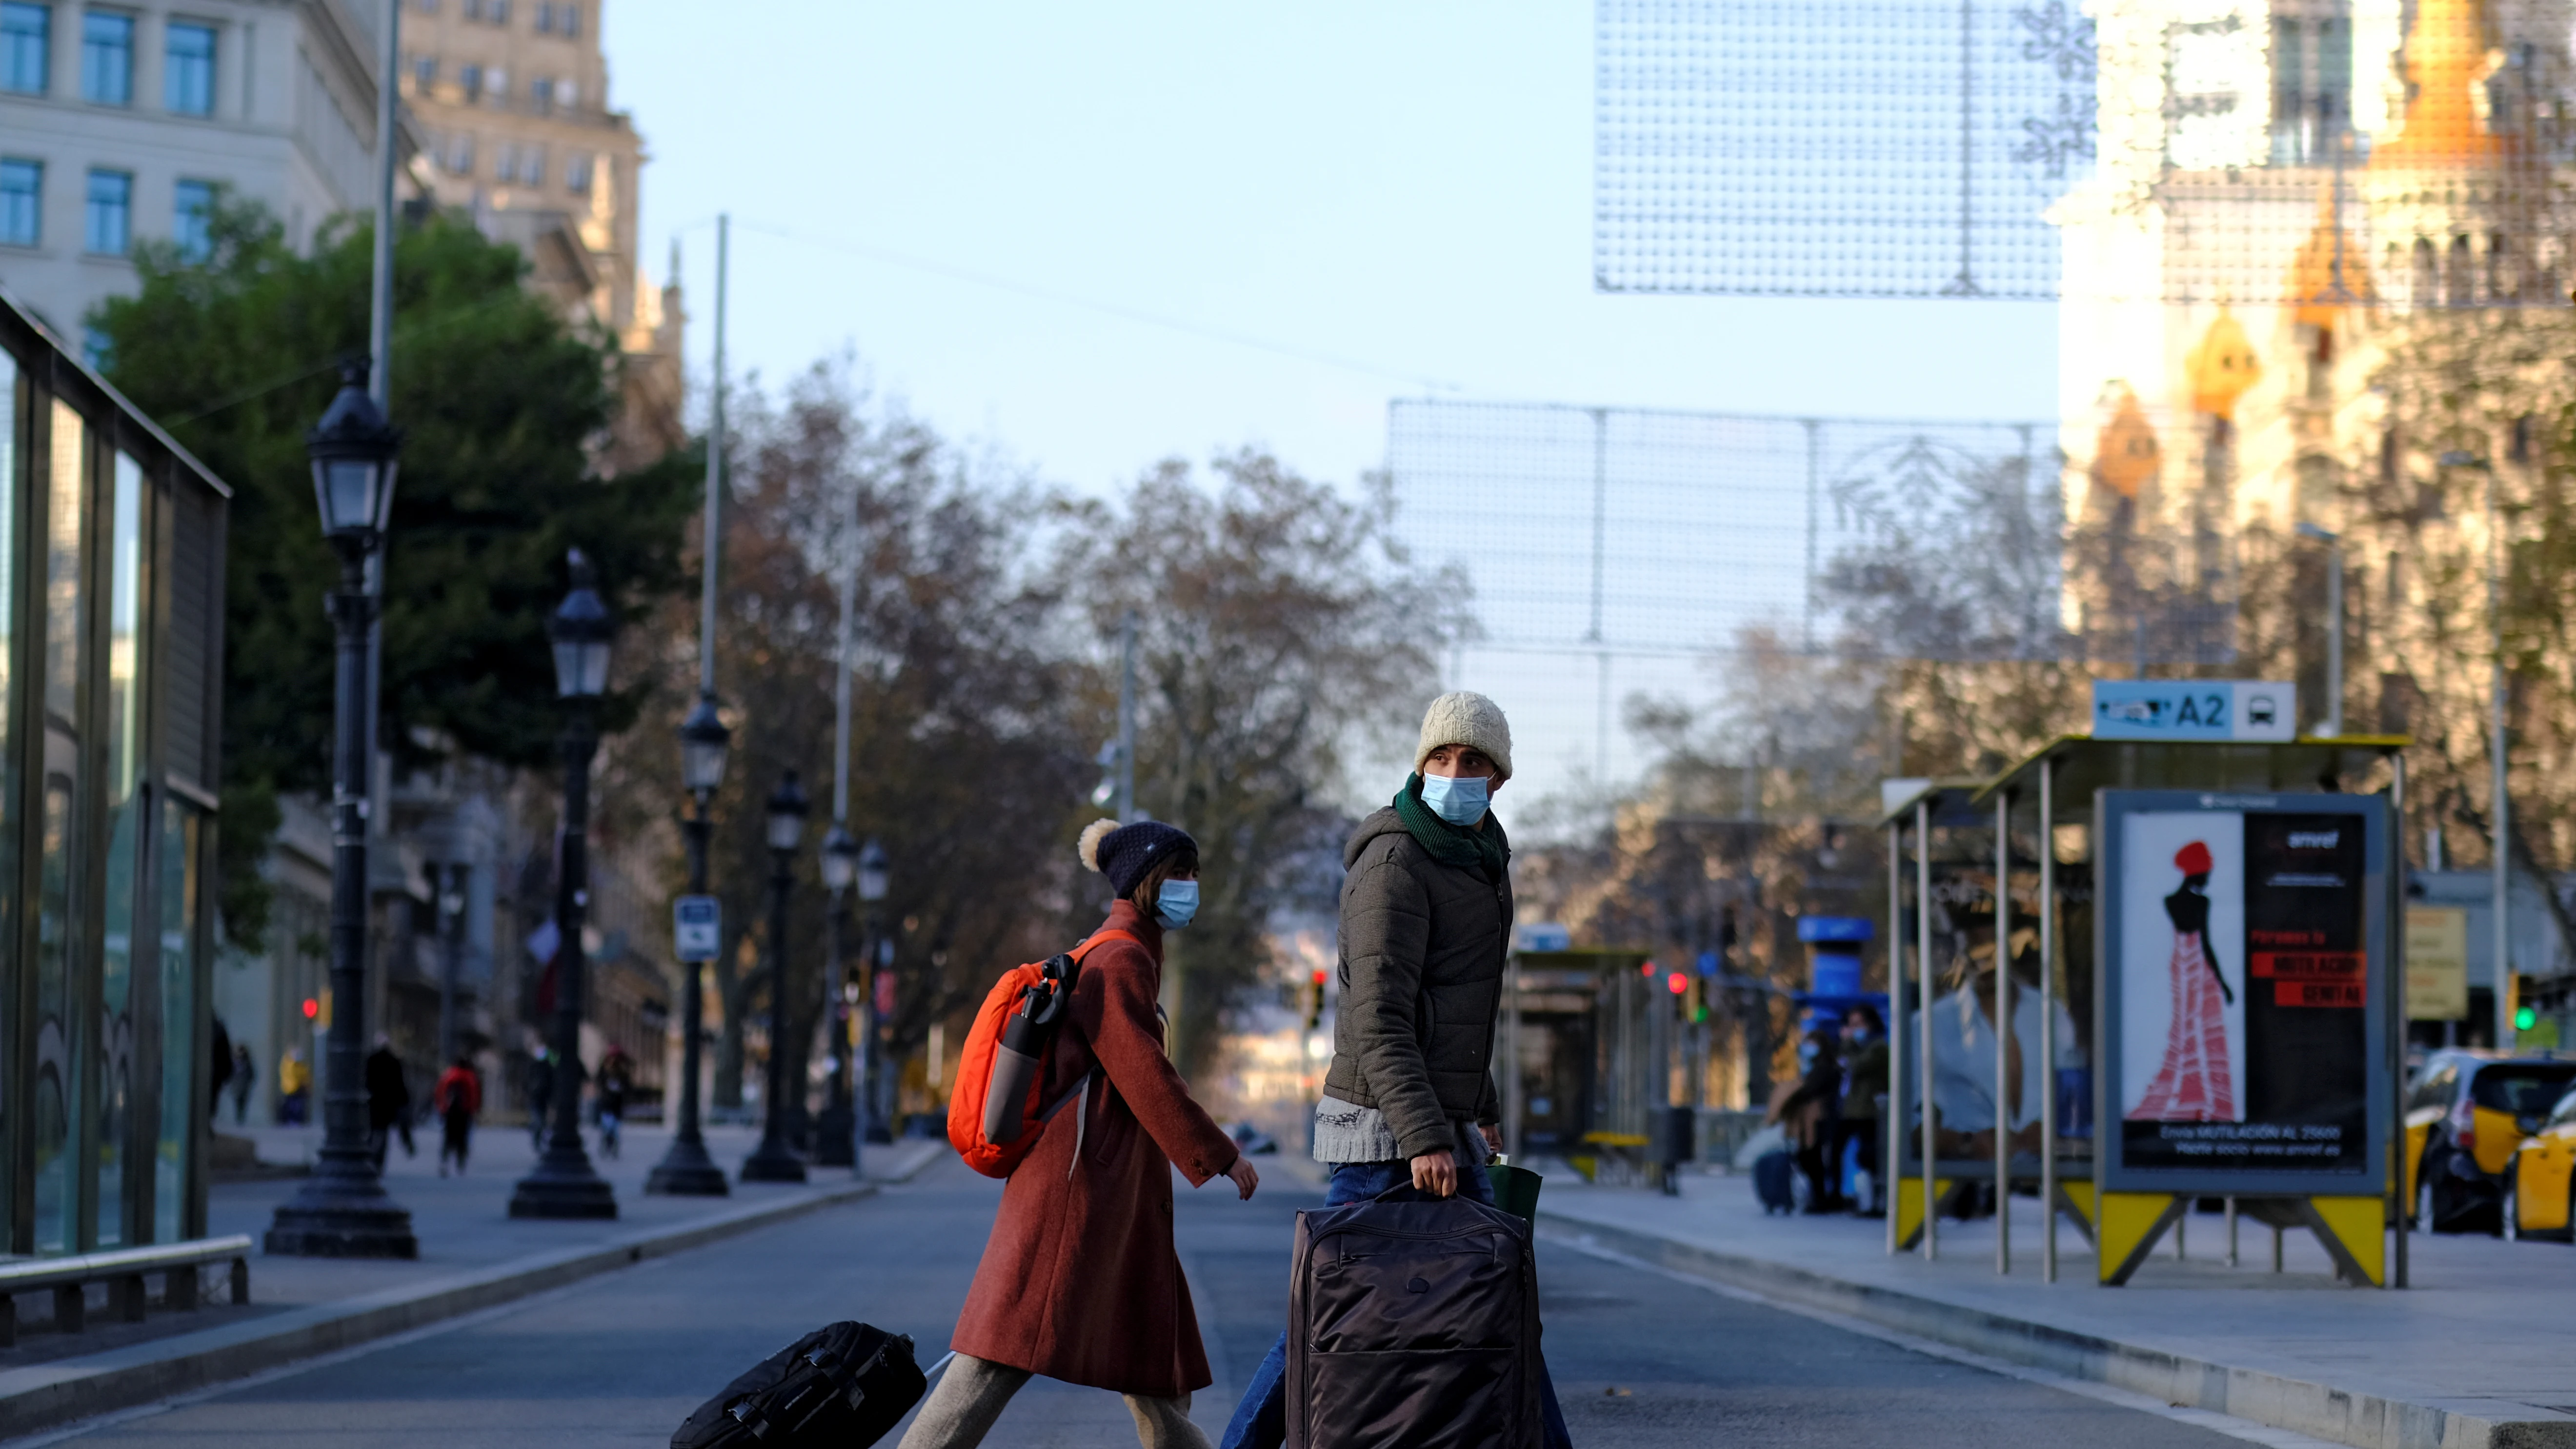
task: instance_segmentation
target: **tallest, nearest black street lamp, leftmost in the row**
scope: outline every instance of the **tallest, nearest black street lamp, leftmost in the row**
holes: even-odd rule
[[[268,1253],[296,1258],[417,1258],[412,1214],[384,1191],[366,1147],[366,559],[394,511],[402,433],[366,394],[366,364],[340,371],[340,394],[307,433],[322,536],[340,554],[330,593],[335,652],[330,1042],[322,1055],[322,1158],[268,1222]]]

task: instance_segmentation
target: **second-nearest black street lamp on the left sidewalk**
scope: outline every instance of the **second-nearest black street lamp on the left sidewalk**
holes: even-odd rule
[[[554,1127],[536,1171],[510,1191],[510,1217],[616,1217],[618,1196],[582,1150],[582,915],[590,910],[590,755],[608,691],[616,619],[592,588],[590,559],[572,549],[572,593],[546,621],[554,694],[564,701],[564,879],[554,887]]]

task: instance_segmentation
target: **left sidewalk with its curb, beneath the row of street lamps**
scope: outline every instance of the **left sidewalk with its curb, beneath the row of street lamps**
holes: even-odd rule
[[[227,1124],[227,1132],[240,1132]],[[255,1127],[265,1163],[301,1163],[319,1147],[317,1129]],[[757,1142],[747,1127],[708,1127],[706,1147],[729,1173]],[[250,1261],[250,1307],[152,1312],[142,1325],[93,1333],[28,1333],[0,1351],[0,1439],[72,1418],[149,1403],[201,1385],[237,1379],[294,1359],[330,1354],[479,1312],[564,1287],[644,1258],[659,1258],[737,1232],[750,1232],[822,1207],[855,1201],[873,1183],[902,1181],[948,1152],[945,1142],[912,1140],[863,1147],[863,1178],[814,1171],[804,1186],[734,1183],[732,1196],[649,1196],[644,1176],[670,1147],[665,1129],[629,1129],[618,1160],[592,1165],[618,1194],[611,1222],[538,1222],[510,1217],[510,1189],[536,1163],[526,1129],[474,1134],[466,1176],[438,1176],[435,1129],[420,1155],[397,1145],[386,1191],[412,1212],[415,1261],[270,1258]],[[206,1227],[222,1238],[268,1230],[276,1204],[304,1178],[219,1183]],[[95,1323],[95,1320],[93,1320]]]

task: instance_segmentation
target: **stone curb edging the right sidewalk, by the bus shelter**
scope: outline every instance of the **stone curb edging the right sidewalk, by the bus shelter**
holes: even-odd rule
[[[2576,1415],[2553,1415],[2532,1405],[2476,1397],[2416,1403],[2262,1369],[2233,1369],[2027,1318],[1857,1284],[1770,1258],[1721,1253],[1631,1227],[1605,1227],[1561,1212],[1540,1209],[1538,1217],[1548,1238],[1571,1248],[1618,1253],[1654,1269],[1744,1289],[1777,1305],[1857,1318],[1989,1359],[2030,1364],[2069,1379],[2092,1379],[2172,1405],[2249,1418],[2354,1449],[2576,1449]]]

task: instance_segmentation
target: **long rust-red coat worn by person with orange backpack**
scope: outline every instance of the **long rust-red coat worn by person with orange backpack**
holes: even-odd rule
[[[1103,928],[1144,944],[1092,946],[1046,1062],[1046,1101],[1095,1073],[1090,1093],[1002,1186],[951,1346],[1069,1385],[1180,1397],[1211,1374],[1172,1250],[1172,1168],[1198,1186],[1231,1168],[1236,1147],[1164,1057],[1162,928],[1126,900]]]

